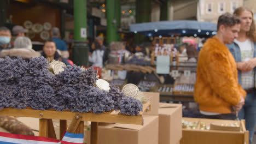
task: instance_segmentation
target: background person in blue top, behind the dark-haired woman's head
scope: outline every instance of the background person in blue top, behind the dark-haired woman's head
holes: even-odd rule
[[[67,51],[67,46],[65,41],[59,39],[60,38],[60,29],[57,27],[53,27],[51,29],[51,38],[55,41],[56,47],[61,51],[61,56],[64,58],[69,57],[69,53]]]

